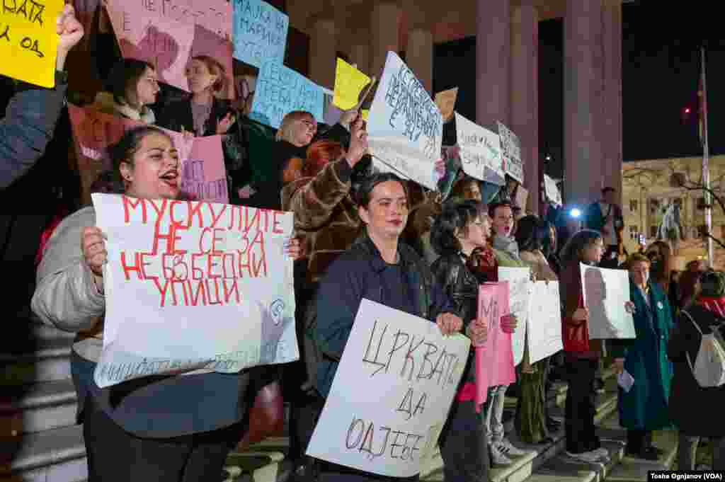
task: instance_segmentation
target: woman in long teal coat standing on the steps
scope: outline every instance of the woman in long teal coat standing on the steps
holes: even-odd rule
[[[619,423],[627,429],[627,455],[658,460],[662,452],[653,446],[652,432],[670,425],[667,343],[672,311],[666,292],[650,280],[650,260],[632,254],[627,265],[636,338],[613,343],[612,354],[617,373],[629,373],[634,385],[629,391],[619,388]]]

